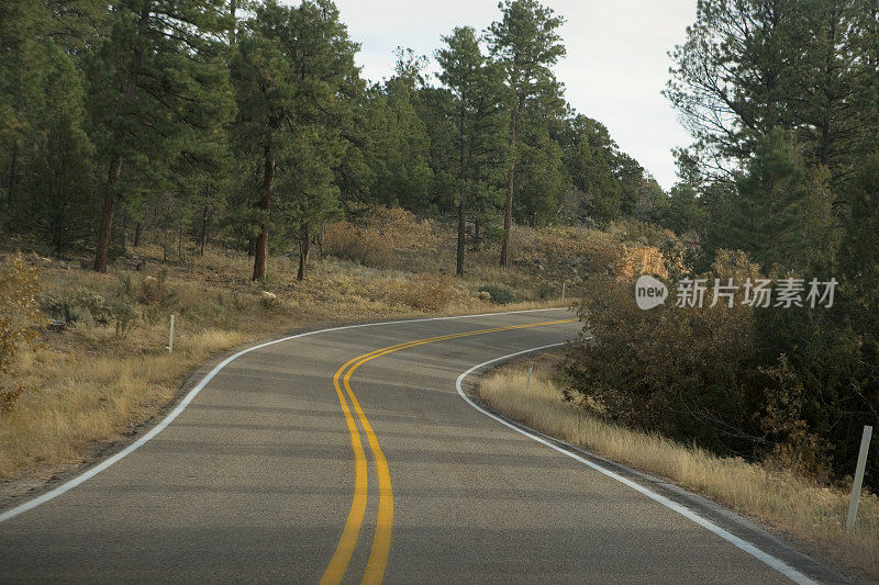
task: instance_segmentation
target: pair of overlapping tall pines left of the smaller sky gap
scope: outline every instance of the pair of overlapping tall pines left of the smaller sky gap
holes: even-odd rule
[[[315,227],[312,222],[332,207],[327,198],[336,191],[327,183],[332,172],[323,170],[332,169],[337,158],[334,154],[342,148],[335,143],[344,126],[340,119],[351,115],[347,98],[361,91],[354,66],[356,48],[329,0],[303,1],[298,8],[269,1],[256,9],[254,19],[237,35],[232,67],[238,103],[235,144],[248,160],[259,160],[262,168],[253,280],[266,275],[274,206],[281,205],[287,221],[298,223],[300,258],[304,260],[309,234]],[[311,145],[322,149],[318,160],[323,170],[305,170],[308,158],[315,153],[307,148],[303,136],[315,135],[326,138]],[[320,176],[320,180],[294,185],[287,178],[286,189],[278,192],[281,201],[276,201],[276,175],[283,172],[305,181]]]

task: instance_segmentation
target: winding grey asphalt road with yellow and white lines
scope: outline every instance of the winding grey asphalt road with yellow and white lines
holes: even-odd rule
[[[336,328],[226,360],[97,473],[0,514],[0,583],[808,583],[459,393],[571,317]]]

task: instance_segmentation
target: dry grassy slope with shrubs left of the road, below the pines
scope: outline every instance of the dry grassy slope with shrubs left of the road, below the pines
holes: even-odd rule
[[[302,282],[275,277],[256,284],[247,279],[245,255],[218,250],[164,262],[160,249],[142,247],[107,274],[26,258],[38,270],[41,297],[69,303],[76,320],[64,331],[44,331],[38,350],[16,357],[24,392],[11,412],[0,413],[0,500],[92,459],[149,420],[218,352],[329,323],[559,304],[532,300],[524,289],[513,291],[514,302],[496,304],[479,293],[483,277],[460,281],[333,258],[315,262]],[[286,257],[274,258],[271,268],[294,274],[294,261]],[[100,318],[101,307],[111,304],[115,312],[122,304],[129,315],[123,326]]]

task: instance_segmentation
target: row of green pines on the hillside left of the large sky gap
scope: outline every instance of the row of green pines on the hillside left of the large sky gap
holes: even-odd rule
[[[429,60],[365,81],[329,0],[5,0],[0,229],[107,270],[147,235],[166,255],[246,249],[253,278],[372,204],[457,223],[465,250],[512,222],[665,218],[655,180],[574,112],[553,66],[563,19],[507,0]]]

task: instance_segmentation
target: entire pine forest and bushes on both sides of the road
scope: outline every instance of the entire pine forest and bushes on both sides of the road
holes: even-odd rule
[[[563,23],[504,0],[375,82],[331,0],[4,0],[0,235],[98,272],[144,241],[246,254],[257,282],[292,255],[302,280],[326,226],[381,206],[448,226],[459,277],[487,246],[513,267],[514,226],[625,225],[669,282],[834,278],[820,311],[641,312],[597,270],[597,340],[565,370],[603,417],[846,481],[879,420],[876,2],[700,0],[670,52],[693,142],[668,192],[566,102]]]

